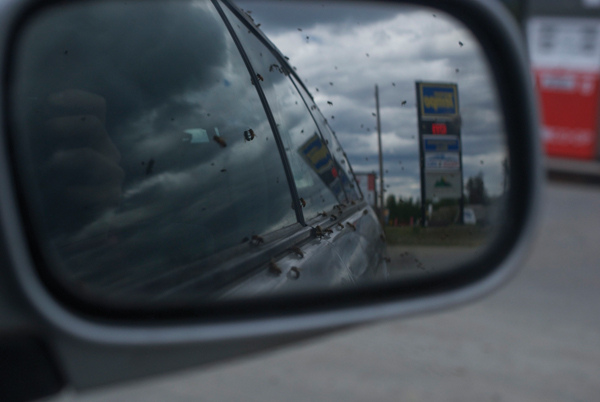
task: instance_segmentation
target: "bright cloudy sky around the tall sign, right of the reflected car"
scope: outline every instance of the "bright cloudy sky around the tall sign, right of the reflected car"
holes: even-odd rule
[[[373,2],[236,4],[290,58],[355,171],[379,171],[377,84],[388,194],[420,197],[415,81],[453,82],[464,180],[482,173],[490,195],[502,192],[507,154],[496,90],[479,43],[458,21],[437,10]]]

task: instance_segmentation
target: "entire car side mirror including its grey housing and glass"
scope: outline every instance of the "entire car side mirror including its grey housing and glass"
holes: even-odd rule
[[[541,176],[501,5],[0,11],[2,331],[44,367],[7,397],[455,306],[518,267]]]

